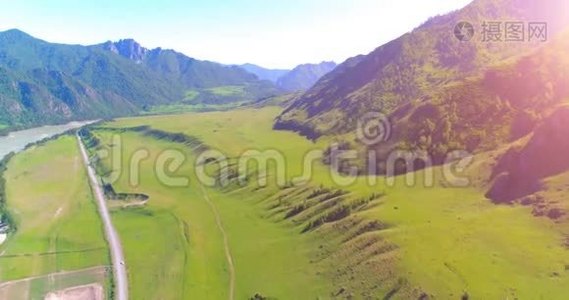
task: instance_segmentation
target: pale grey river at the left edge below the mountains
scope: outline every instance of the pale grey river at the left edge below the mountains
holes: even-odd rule
[[[93,121],[71,122],[65,125],[42,126],[26,130],[13,131],[7,136],[0,136],[0,160],[10,152],[22,151],[26,145],[63,133],[70,129],[91,124]]]

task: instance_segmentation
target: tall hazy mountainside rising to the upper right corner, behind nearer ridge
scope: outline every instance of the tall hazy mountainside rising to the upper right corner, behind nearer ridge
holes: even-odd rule
[[[347,60],[324,76],[277,119],[275,128],[310,138],[355,130],[368,111],[389,114],[426,93],[482,74],[490,66],[537,47],[540,43],[483,42],[485,21],[546,20],[553,36],[567,18],[566,1],[476,0],[462,10],[432,18],[411,33],[368,55]],[[473,24],[477,34],[461,42],[453,31],[460,21]]]

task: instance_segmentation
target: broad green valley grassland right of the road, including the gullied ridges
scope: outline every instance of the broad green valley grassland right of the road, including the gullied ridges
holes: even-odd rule
[[[129,118],[107,126],[149,125],[185,133],[230,157],[248,149],[275,148],[286,157],[290,179],[301,172],[303,155],[311,149],[323,149],[328,141],[311,143],[290,132],[271,130],[279,111],[280,108],[263,108]],[[108,131],[98,134],[104,136]],[[150,178],[156,153],[182,146],[135,133],[124,133],[123,138],[125,145],[133,147],[126,153],[145,148],[154,155],[143,162],[146,167],[143,166],[145,171],[138,188],[129,187],[124,178],[118,186],[151,195],[145,211],[174,214],[179,220],[177,227],[174,221],[161,222],[165,224],[164,232],[170,228],[180,235],[173,239],[177,242],[170,248],[177,250],[172,251],[187,255],[187,273],[177,271],[186,283],[179,283],[185,286],[184,296],[226,297],[223,293],[227,290],[227,268],[219,233],[211,212],[200,202],[202,196],[196,191],[195,181],[188,189],[176,190],[160,186]],[[188,149],[182,150],[189,158],[193,157]],[[179,174],[191,174],[191,164],[190,159]],[[123,169],[127,168],[123,166]],[[440,172],[439,168],[435,169],[436,174]],[[416,175],[421,178],[423,172]],[[343,189],[350,193],[349,199],[372,193],[385,193],[385,197],[346,218],[324,223],[304,234],[301,232],[307,222],[330,215],[331,209],[311,206],[287,220],[285,215],[292,207],[306,202],[309,192],[302,189],[338,188],[328,168],[320,163],[315,164],[314,174],[305,187],[282,190],[271,184],[261,190],[254,186],[238,190],[211,189],[235,259],[236,296],[247,297],[254,292],[284,299],[328,298],[336,293],[344,296],[351,293],[361,298],[377,295],[416,298],[426,293],[437,298],[458,299],[465,292],[473,298],[487,299],[564,299],[568,296],[564,288],[569,284],[566,270],[569,251],[563,246],[566,224],[533,217],[529,208],[494,205],[475,187],[457,189],[438,184],[432,188],[406,187],[402,178],[390,187],[383,178],[377,179],[378,183],[370,186],[365,178],[356,178]],[[121,218],[127,218],[120,217],[121,214],[142,218],[126,211],[117,212],[114,218],[119,224]],[[355,228],[363,228],[359,226],[371,221],[387,226],[354,234]],[[186,236],[190,238],[186,240],[188,245],[182,247],[184,230],[189,230]],[[130,235],[131,231],[121,234]],[[132,241],[128,244],[127,260],[137,260],[136,255],[145,256],[133,249],[144,249],[147,243]],[[165,254],[162,259],[173,259],[170,257],[174,256]],[[133,270],[149,267],[132,263],[129,266]],[[156,279],[156,274],[177,267],[153,265],[151,268],[160,271],[140,276]],[[149,288],[140,280],[133,281],[133,289],[143,295]]]

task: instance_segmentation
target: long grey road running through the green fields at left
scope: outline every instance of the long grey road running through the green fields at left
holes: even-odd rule
[[[107,202],[105,202],[105,194],[101,189],[101,185],[97,180],[95,170],[89,163],[89,155],[85,149],[85,145],[81,140],[81,137],[77,135],[77,142],[79,143],[79,148],[81,149],[81,156],[83,157],[83,162],[87,168],[87,173],[89,175],[89,181],[91,182],[91,188],[95,199],[97,200],[97,206],[99,209],[99,214],[103,220],[103,225],[105,227],[105,236],[109,247],[111,248],[111,261],[113,264],[113,279],[115,286],[115,299],[117,300],[127,300],[128,299],[128,278],[126,272],[126,265],[124,260],[124,254],[122,250],[122,245],[117,234],[117,231],[113,227],[111,222],[111,216],[107,208]]]

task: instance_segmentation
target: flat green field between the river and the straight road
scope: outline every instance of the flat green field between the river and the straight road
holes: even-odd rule
[[[0,246],[1,281],[109,264],[74,137],[16,155],[5,178],[18,230]]]

